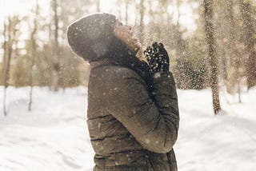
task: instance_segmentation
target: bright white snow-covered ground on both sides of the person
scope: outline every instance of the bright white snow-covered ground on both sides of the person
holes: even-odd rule
[[[86,88],[51,92],[8,88],[8,116],[0,87],[0,171],[89,171],[94,152],[86,128]],[[178,90],[179,137],[174,146],[179,171],[252,171],[256,168],[256,87],[235,96],[221,93],[214,116],[210,89]]]

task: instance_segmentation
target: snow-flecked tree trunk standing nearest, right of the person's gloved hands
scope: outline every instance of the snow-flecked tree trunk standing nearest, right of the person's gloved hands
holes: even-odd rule
[[[214,114],[221,110],[218,95],[218,61],[215,51],[214,25],[213,25],[213,1],[204,0],[205,7],[205,25],[206,25],[206,42],[208,44],[208,55],[210,62],[210,87],[214,105]]]

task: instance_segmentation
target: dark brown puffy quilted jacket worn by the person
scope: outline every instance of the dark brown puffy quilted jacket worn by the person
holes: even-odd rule
[[[170,72],[153,78],[154,92],[134,70],[91,62],[87,124],[94,170],[174,171],[178,99]]]

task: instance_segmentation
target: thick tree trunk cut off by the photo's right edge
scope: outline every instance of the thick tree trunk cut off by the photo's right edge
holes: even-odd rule
[[[243,30],[245,34],[245,46],[248,58],[246,60],[247,88],[256,85],[256,51],[255,51],[255,30],[254,30],[254,11],[249,1],[240,0],[242,11]]]

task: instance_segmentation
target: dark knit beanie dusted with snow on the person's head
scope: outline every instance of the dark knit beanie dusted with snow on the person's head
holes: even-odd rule
[[[114,38],[113,14],[90,14],[68,26],[67,38],[75,54],[93,62],[109,53]]]

